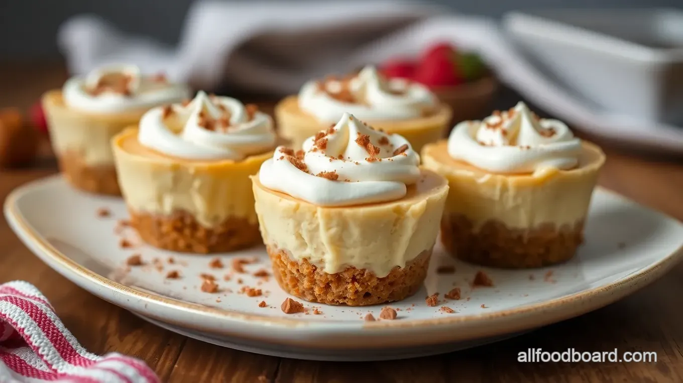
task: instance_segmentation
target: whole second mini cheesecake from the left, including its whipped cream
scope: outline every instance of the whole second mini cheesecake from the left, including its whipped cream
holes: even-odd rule
[[[272,157],[273,120],[255,105],[198,92],[150,109],[111,142],[131,226],[179,252],[260,242],[249,176]]]

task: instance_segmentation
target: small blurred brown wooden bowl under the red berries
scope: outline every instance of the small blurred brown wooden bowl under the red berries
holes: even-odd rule
[[[498,90],[498,81],[492,76],[432,92],[453,109],[451,127],[465,120],[479,120],[491,114],[492,103]],[[451,129],[447,129],[450,131]]]

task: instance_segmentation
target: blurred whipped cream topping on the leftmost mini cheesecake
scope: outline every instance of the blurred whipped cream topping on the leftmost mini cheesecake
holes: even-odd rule
[[[164,75],[144,76],[135,65],[112,65],[72,77],[62,89],[68,107],[94,113],[122,113],[178,103],[191,93]]]

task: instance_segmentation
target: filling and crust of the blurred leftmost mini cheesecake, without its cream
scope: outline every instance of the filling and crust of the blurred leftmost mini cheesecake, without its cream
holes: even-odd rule
[[[42,97],[45,118],[59,170],[76,189],[120,196],[111,138],[135,125],[144,110],[96,114],[68,107],[61,90]]]

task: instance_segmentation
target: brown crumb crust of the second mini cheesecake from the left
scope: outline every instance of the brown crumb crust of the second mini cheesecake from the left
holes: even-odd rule
[[[155,248],[208,254],[262,243],[258,224],[242,217],[229,217],[219,226],[206,228],[184,211],[170,216],[129,211],[130,226],[137,230],[143,241]]]

